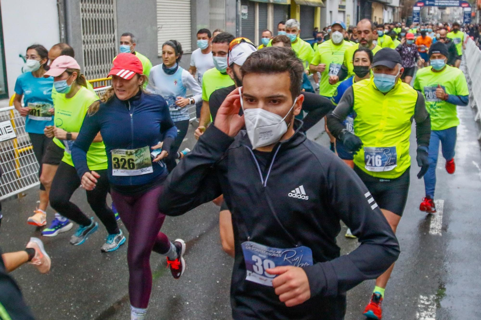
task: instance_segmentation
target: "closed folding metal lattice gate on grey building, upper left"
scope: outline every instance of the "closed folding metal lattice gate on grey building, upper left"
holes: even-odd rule
[[[83,73],[87,79],[105,77],[117,55],[115,0],[80,0]]]

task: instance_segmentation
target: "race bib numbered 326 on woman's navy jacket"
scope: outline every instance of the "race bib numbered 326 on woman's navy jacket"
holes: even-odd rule
[[[149,147],[112,150],[112,175],[134,176],[152,172]]]

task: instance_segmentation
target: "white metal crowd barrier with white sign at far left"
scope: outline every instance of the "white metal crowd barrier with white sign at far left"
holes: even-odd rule
[[[0,109],[0,200],[37,186],[38,161],[25,132],[25,117],[14,107]]]

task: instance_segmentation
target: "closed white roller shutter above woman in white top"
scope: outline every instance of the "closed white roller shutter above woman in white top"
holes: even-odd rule
[[[184,53],[192,51],[190,30],[190,0],[157,0],[157,50],[162,56],[162,45],[177,40]]]

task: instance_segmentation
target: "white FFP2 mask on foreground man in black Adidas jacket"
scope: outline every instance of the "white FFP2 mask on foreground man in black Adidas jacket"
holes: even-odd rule
[[[294,99],[291,109],[282,118],[278,114],[260,108],[244,109],[241,87],[239,87],[239,94],[241,95],[241,107],[244,112],[245,128],[252,148],[257,149],[278,142],[282,135],[287,132],[287,124],[284,120],[294,108],[297,98]]]

